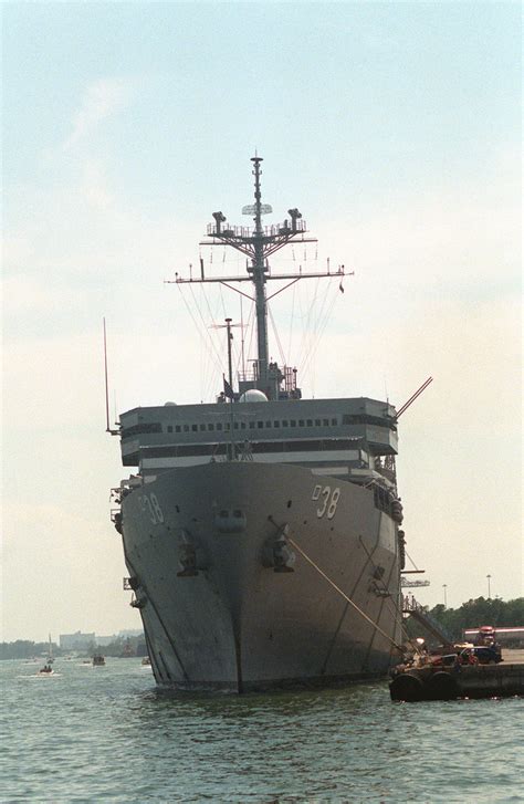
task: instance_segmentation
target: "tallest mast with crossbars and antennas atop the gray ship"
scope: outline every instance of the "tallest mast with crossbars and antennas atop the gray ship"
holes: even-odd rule
[[[203,269],[203,260],[200,261],[200,276],[189,279],[175,274],[174,282],[176,284],[181,283],[202,283],[202,282],[219,282],[230,290],[234,290],[240,295],[251,299],[255,303],[256,313],[256,361],[254,366],[254,380],[253,386],[266,394],[268,398],[279,398],[279,386],[285,374],[282,374],[276,364],[269,364],[269,345],[268,345],[268,301],[277,293],[290,288],[292,284],[301,279],[312,278],[335,278],[339,281],[344,276],[344,265],[340,265],[336,272],[327,271],[321,273],[270,273],[268,258],[282,249],[289,243],[307,243],[316,242],[316,238],[305,237],[307,229],[305,221],[302,220],[302,213],[296,209],[289,209],[289,220],[284,220],[283,223],[263,226],[262,216],[272,212],[273,209],[269,203],[262,203],[262,191],[260,186],[260,177],[262,175],[261,163],[262,157],[255,155],[251,157],[253,163],[252,174],[254,176],[254,203],[247,205],[242,208],[243,215],[249,215],[254,221],[254,228],[230,226],[227,222],[226,216],[219,211],[213,212],[214,223],[208,226],[208,237],[210,240],[200,241],[200,246],[214,246],[222,243],[230,246],[231,248],[240,251],[248,257],[247,276],[206,276]],[[287,284],[284,288],[275,291],[272,295],[266,295],[266,283],[270,280],[287,280]],[[172,280],[165,280],[170,283]],[[251,282],[254,286],[254,296],[249,293],[244,293],[233,286],[232,283]],[[285,373],[284,368],[284,373]],[[291,370],[291,369],[290,369]],[[295,373],[296,378],[296,373]],[[244,386],[248,384],[244,383]],[[300,391],[297,391],[300,396]]]

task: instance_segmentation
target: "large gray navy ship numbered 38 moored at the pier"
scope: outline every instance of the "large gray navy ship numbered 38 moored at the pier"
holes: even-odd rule
[[[272,210],[261,201],[262,158],[252,163],[254,203],[242,211],[254,226],[214,212],[205,241],[244,254],[245,275],[207,276],[201,261],[198,276],[175,281],[248,283],[256,359],[233,378],[230,351],[214,403],[137,407],[117,430],[134,473],[113,490],[112,519],[166,688],[243,692],[377,678],[401,638],[398,413],[366,397],[305,399],[296,369],[270,359],[270,283],[339,283],[344,268],[272,272],[273,253],[313,239],[297,209],[263,225]]]

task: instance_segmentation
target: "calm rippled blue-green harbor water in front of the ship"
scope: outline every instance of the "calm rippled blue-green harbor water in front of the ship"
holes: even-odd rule
[[[387,683],[166,696],[139,659],[0,662],[0,801],[523,802],[524,700]]]

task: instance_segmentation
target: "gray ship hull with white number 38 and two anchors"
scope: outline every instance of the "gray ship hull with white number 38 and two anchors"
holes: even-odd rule
[[[157,682],[384,676],[400,629],[396,531],[369,489],[297,466],[209,463],[134,490],[124,552]]]

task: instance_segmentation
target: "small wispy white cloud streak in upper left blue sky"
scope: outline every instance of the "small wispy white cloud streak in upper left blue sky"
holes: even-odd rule
[[[97,126],[116,114],[128,102],[134,82],[126,79],[99,79],[85,91],[81,107],[73,119],[73,132],[63,145],[71,150],[91,136]]]

